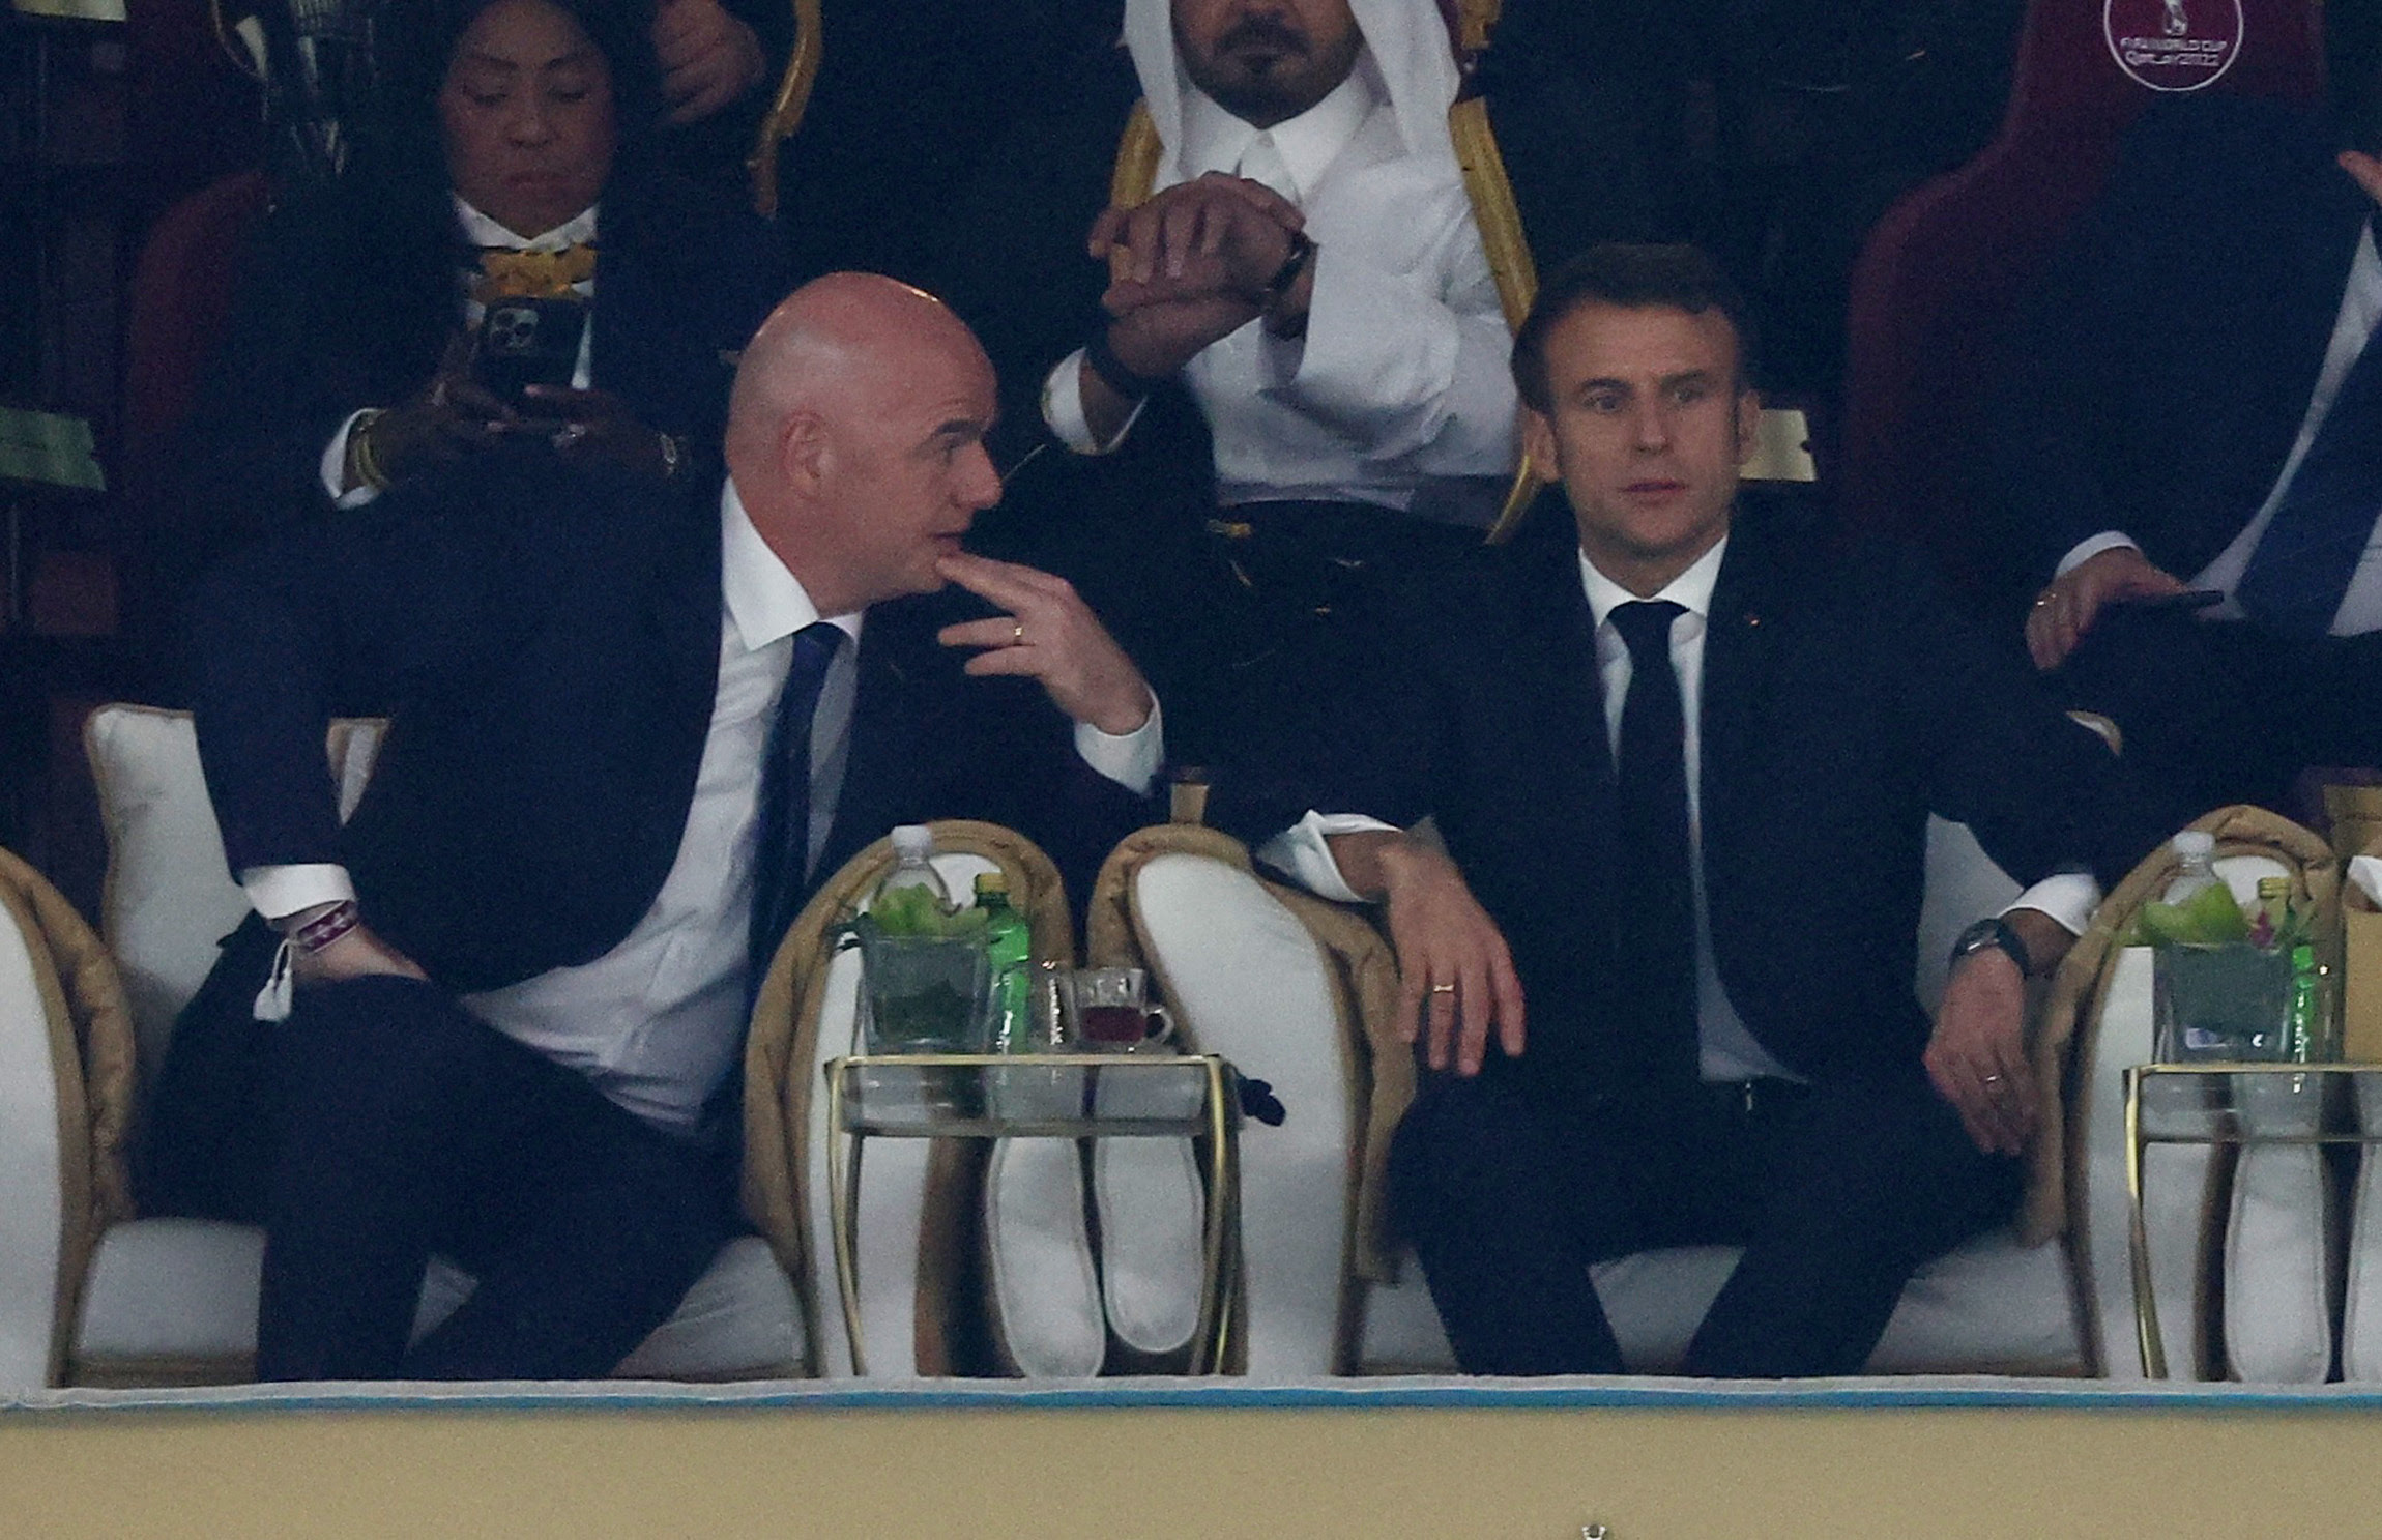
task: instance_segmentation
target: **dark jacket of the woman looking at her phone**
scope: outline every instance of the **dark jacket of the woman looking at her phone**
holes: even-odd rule
[[[438,240],[398,229],[355,186],[276,209],[245,255],[207,388],[183,428],[176,521],[152,531],[160,602],[222,557],[331,507],[322,450],[348,414],[410,397],[457,326]],[[710,459],[734,367],[784,298],[769,231],[660,169],[605,188],[593,302],[593,381]]]

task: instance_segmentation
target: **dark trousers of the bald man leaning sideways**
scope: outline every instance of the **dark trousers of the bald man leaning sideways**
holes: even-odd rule
[[[741,1228],[724,1157],[434,985],[300,990],[257,1031],[260,1381],[596,1378]],[[431,1252],[479,1285],[407,1347]]]

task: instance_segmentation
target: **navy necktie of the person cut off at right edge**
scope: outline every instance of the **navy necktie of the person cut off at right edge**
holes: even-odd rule
[[[2382,512],[2382,345],[2349,367],[2291,486],[2241,571],[2241,609],[2296,638],[2332,631]]]

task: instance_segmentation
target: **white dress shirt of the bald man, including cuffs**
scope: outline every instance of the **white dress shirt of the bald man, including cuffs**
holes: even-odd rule
[[[462,997],[505,1035],[569,1064],[648,1123],[679,1133],[696,1128],[743,1043],[760,762],[793,664],[793,633],[822,619],[753,528],[734,483],[719,493],[719,686],[696,797],[662,890],[629,935],[596,962]],[[862,614],[824,619],[860,640]],[[812,864],[827,847],[850,757],[858,652],[858,645],[836,650],[812,714]],[[1074,745],[1091,769],[1146,793],[1165,752],[1162,731],[1153,707],[1151,719],[1122,738],[1077,724]],[[252,866],[241,883],[267,919],[355,897],[345,866]]]

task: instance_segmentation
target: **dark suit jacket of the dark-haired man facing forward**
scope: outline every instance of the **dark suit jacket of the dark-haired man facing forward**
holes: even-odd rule
[[[1529,1045],[1498,1073],[1565,1095],[1677,1081],[1694,1054],[1608,1009],[1632,966],[1615,919],[1613,762],[1577,547],[1539,540],[1401,605],[1396,678],[1341,690],[1320,752],[1220,785],[1267,838],[1303,809],[1434,814],[1513,947]],[[1713,952],[1753,1035],[1806,1076],[1915,1076],[1913,950],[1927,814],[1975,826],[2020,881],[2113,881],[2156,840],[2101,743],[1965,631],[1922,564],[1839,552],[1741,509],[1703,655],[1701,835]]]

